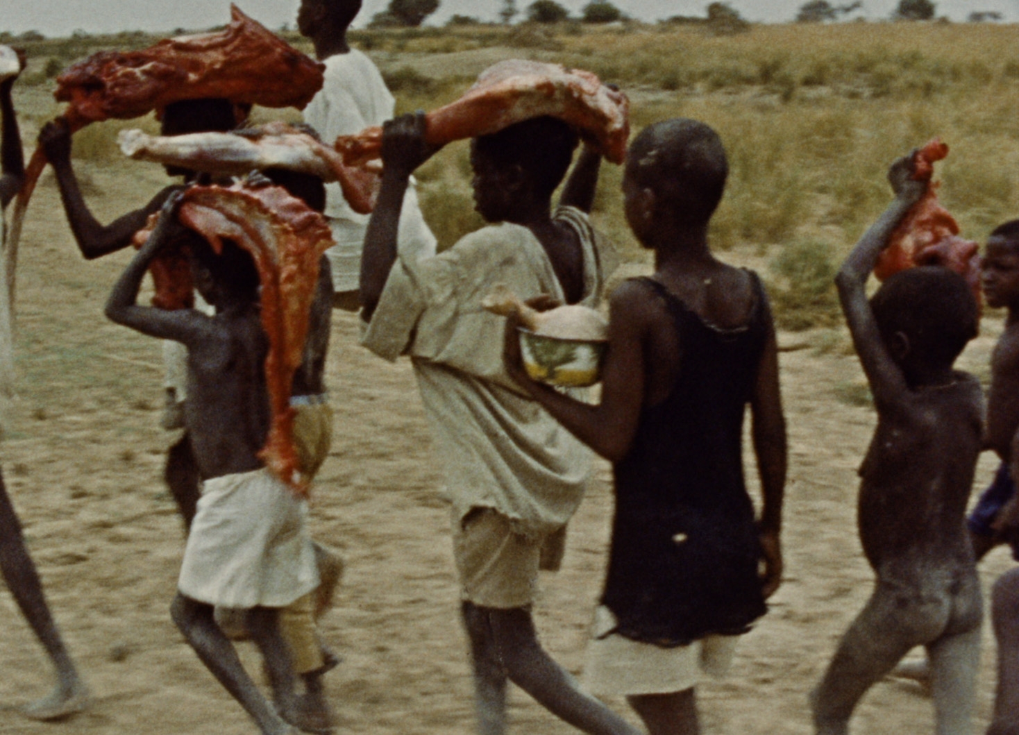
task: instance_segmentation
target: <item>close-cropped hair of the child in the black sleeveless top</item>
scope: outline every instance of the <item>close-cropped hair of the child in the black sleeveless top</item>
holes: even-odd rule
[[[627,153],[627,173],[689,224],[703,224],[721,201],[729,161],[711,127],[687,117],[648,125]]]

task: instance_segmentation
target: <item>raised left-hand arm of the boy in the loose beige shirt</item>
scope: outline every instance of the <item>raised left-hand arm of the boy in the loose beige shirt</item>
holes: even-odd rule
[[[396,262],[399,213],[411,174],[440,147],[425,143],[425,115],[400,115],[382,128],[382,183],[368,220],[361,255],[361,318],[371,321],[382,288]]]

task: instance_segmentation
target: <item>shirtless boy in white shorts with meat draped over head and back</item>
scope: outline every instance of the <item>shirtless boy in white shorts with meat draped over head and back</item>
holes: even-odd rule
[[[277,617],[279,609],[315,589],[319,580],[306,527],[307,504],[258,458],[270,411],[268,336],[254,260],[228,242],[219,256],[204,240],[192,246],[196,287],[216,308],[214,316],[137,304],[153,258],[182,235],[175,216],[179,199],[174,194],[163,205],[156,228],[114,285],[106,315],[187,348],[184,421],[203,491],[171,606],[173,621],[265,735],[292,733],[287,722],[296,717],[299,702]],[[264,658],[275,710],[216,625],[217,605],[249,611],[247,627]]]

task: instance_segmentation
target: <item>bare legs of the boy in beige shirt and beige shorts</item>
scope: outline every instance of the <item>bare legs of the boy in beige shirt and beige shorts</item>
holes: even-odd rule
[[[586,733],[637,735],[640,732],[577,688],[573,677],[541,648],[527,608],[501,610],[465,602],[464,622],[471,639],[484,735],[504,731],[506,678],[550,713]],[[497,660],[493,660],[493,652]],[[496,662],[501,662],[501,667],[495,666]]]

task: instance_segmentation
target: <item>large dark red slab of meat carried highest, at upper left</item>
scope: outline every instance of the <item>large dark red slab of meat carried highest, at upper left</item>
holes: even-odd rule
[[[69,116],[129,119],[180,100],[222,97],[264,107],[304,107],[324,65],[230,6],[225,30],[164,39],[141,51],[100,51],[57,77]]]

